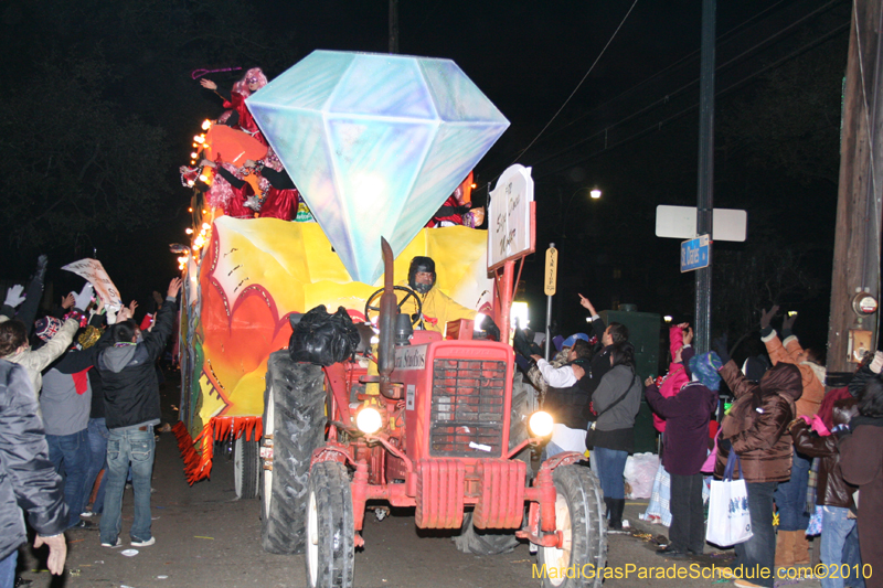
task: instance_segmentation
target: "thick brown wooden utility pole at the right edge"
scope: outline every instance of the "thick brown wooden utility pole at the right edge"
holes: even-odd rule
[[[830,387],[845,385],[880,334],[880,234],[883,186],[883,0],[854,0],[843,95],[837,234],[828,324]]]

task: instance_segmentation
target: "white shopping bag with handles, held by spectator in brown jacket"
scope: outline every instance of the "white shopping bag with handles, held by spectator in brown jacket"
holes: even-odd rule
[[[736,451],[731,449],[724,479],[714,480],[711,483],[709,527],[705,531],[705,541],[719,547],[730,547],[746,542],[753,535],[745,480],[733,480],[733,469],[737,461]],[[740,472],[742,472],[742,468],[740,468]]]

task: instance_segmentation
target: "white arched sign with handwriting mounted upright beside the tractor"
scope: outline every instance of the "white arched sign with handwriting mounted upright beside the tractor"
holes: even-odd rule
[[[497,180],[488,205],[488,269],[533,253],[531,168],[514,164]]]

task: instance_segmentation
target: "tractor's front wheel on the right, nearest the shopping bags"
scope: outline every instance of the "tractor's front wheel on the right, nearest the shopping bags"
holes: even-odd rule
[[[607,524],[604,493],[598,478],[583,466],[561,466],[552,473],[555,483],[555,528],[564,533],[565,545],[540,547],[540,565],[557,574],[543,577],[543,588],[600,588],[607,563]],[[573,578],[561,574],[579,569]]]

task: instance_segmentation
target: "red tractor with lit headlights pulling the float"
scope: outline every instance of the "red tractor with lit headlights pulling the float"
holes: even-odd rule
[[[535,544],[544,586],[599,587],[607,537],[595,473],[578,453],[532,471],[532,449],[552,423],[532,410],[512,349],[412,331],[411,317],[398,314],[403,288],[393,287],[385,240],[383,253],[385,286],[366,309],[380,296],[375,360],[369,351],[321,367],[292,362],[287,350],[269,357],[264,548],[306,552],[310,587],[350,587],[366,502],[385,501],[415,507],[421,528],[461,530],[462,550]]]

